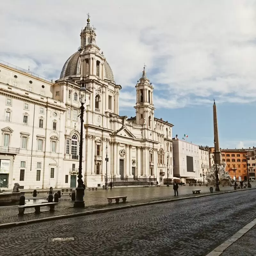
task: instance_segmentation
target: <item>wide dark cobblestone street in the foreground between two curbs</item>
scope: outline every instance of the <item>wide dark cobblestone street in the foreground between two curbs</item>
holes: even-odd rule
[[[253,189],[5,228],[0,232],[0,252],[204,256],[256,218],[255,196]],[[72,236],[74,241],[51,241]]]

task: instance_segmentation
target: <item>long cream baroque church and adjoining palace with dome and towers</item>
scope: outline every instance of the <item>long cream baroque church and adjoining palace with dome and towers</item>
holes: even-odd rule
[[[0,64],[0,179],[24,188],[76,187],[79,144],[79,82],[85,77],[83,179],[88,187],[108,181],[162,181],[173,177],[172,127],[154,117],[153,86],[145,68],[136,84],[136,116],[119,116],[113,72],[87,20],[81,45],[64,64],[60,79],[46,80]],[[168,167],[167,167],[168,159]],[[7,161],[7,162],[6,162]],[[9,161],[9,165],[8,165]]]

